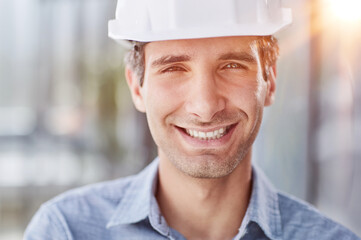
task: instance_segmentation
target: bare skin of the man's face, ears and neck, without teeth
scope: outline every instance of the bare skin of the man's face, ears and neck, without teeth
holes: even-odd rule
[[[158,146],[158,203],[187,239],[231,239],[247,209],[251,146],[275,91],[275,67],[264,79],[256,47],[254,37],[151,42],[143,85],[126,69]],[[185,132],[222,127],[213,140]]]

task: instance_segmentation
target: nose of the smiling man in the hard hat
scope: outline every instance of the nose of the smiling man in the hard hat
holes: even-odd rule
[[[186,111],[202,122],[210,122],[226,106],[225,97],[212,73],[194,75],[188,96]]]

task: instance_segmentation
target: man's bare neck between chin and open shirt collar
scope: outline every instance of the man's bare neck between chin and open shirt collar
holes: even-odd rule
[[[160,155],[156,197],[170,227],[186,239],[232,239],[251,194],[251,151],[226,177],[188,176]]]

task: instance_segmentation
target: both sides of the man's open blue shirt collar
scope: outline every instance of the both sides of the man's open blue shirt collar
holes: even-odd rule
[[[158,163],[159,159],[156,158],[143,171],[134,176],[134,180],[125,191],[125,195],[108,222],[107,228],[120,224],[136,223],[146,219],[151,214],[155,215],[154,209],[151,208],[158,207],[154,197],[158,179]],[[282,239],[277,191],[257,166],[253,166],[252,181],[251,199],[240,232],[243,232],[242,230],[245,230],[246,226],[253,221],[262,228],[270,239]],[[160,215],[157,217],[162,218]],[[164,219],[160,219],[159,222],[163,222],[160,231],[167,233],[169,229],[164,225]]]

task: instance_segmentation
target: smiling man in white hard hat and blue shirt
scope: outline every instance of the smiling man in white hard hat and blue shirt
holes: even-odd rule
[[[119,0],[110,36],[159,156],[44,204],[25,239],[359,239],[251,164],[289,23],[279,1]]]

